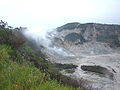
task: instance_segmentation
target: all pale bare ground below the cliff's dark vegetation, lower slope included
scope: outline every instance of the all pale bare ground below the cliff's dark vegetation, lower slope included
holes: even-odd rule
[[[68,75],[75,79],[85,79],[88,84],[98,90],[119,90],[120,88],[120,51],[119,48],[112,49],[108,45],[99,42],[85,43],[84,45],[57,45],[63,51],[69,53],[66,56],[58,55],[53,52],[49,54],[49,60],[54,63],[78,65],[75,72],[68,73],[61,71],[64,75]],[[108,71],[105,75],[81,69],[82,65],[101,66]],[[109,73],[110,72],[110,73]],[[112,73],[112,77],[111,77]]]

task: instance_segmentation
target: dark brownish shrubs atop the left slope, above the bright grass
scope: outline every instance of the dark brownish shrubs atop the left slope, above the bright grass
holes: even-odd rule
[[[7,44],[13,48],[19,48],[24,43],[25,38],[19,31],[0,27],[0,44]]]

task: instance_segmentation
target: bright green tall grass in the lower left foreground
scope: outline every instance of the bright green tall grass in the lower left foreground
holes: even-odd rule
[[[74,90],[51,80],[30,62],[11,60],[11,51],[9,46],[0,45],[0,90]]]

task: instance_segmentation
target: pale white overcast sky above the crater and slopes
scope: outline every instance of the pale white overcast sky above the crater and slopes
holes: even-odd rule
[[[0,20],[14,27],[68,22],[120,24],[120,0],[0,0]]]

